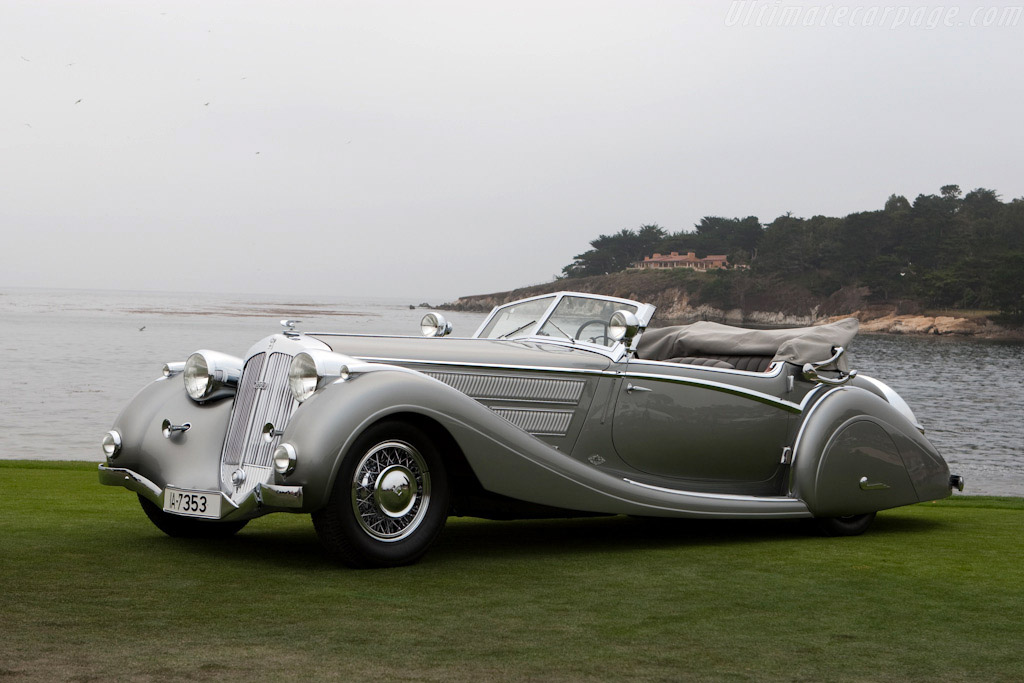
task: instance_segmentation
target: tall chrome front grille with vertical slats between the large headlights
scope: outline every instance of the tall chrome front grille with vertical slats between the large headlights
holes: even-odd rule
[[[274,429],[284,430],[298,405],[288,387],[291,362],[288,353],[262,352],[249,358],[242,371],[220,456],[221,481],[236,502],[273,475],[278,439],[264,438],[263,427],[272,424]],[[244,475],[241,480],[239,472]]]

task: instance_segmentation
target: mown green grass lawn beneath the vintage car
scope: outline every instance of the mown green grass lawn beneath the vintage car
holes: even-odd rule
[[[0,680],[1024,679],[1024,501],[793,522],[453,519],[411,567],[308,516],[172,540],[95,465],[0,462]]]

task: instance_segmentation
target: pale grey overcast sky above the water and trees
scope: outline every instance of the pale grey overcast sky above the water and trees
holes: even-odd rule
[[[648,223],[1024,197],[1021,9],[4,0],[0,288],[438,302]]]

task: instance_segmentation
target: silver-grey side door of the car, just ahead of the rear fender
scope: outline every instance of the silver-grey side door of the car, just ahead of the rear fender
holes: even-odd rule
[[[784,364],[746,373],[631,359],[615,398],[615,451],[679,487],[760,490],[780,472],[799,410],[790,386]]]

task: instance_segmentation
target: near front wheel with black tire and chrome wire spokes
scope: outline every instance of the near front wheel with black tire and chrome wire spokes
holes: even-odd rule
[[[329,557],[369,568],[419,560],[447,513],[449,482],[437,447],[416,426],[388,420],[370,427],[345,454],[331,499],[312,518]]]

